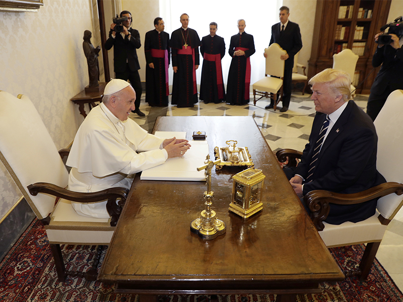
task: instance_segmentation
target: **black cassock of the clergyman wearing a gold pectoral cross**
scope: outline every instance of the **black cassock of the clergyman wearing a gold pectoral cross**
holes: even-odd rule
[[[172,105],[193,107],[198,102],[194,65],[199,65],[199,45],[200,39],[191,28],[179,28],[171,34],[172,66],[178,67],[173,74]]]

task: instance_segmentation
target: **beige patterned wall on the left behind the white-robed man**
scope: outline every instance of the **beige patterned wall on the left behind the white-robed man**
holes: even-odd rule
[[[82,45],[91,10],[89,0],[51,0],[35,13],[0,12],[0,90],[31,98],[57,148],[83,121],[70,99],[88,85]],[[0,164],[0,219],[21,195]]]

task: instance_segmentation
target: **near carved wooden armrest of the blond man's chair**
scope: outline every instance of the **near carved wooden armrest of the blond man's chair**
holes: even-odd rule
[[[403,193],[403,184],[388,182],[353,194],[314,190],[304,196],[304,202],[311,211],[311,219],[316,229],[322,231],[324,229],[323,220],[325,220],[329,214],[329,203],[357,204],[391,193],[401,195]]]

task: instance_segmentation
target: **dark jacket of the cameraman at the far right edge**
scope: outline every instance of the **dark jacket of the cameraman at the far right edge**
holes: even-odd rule
[[[372,66],[381,69],[371,87],[371,93],[380,95],[389,86],[390,91],[403,89],[403,49],[394,49],[390,45],[377,47],[372,57]]]

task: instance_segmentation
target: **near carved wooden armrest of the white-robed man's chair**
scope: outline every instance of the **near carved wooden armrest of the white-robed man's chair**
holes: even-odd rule
[[[122,211],[122,206],[124,205],[127,198],[127,194],[129,193],[128,189],[121,187],[109,188],[106,190],[93,193],[80,193],[66,190],[59,186],[49,183],[35,183],[29,185],[28,190],[34,196],[36,196],[38,193],[45,193],[56,197],[64,198],[67,200],[82,203],[96,202],[108,199],[106,204],[106,210],[111,216],[110,221],[111,226],[116,225],[117,220],[119,219],[120,213]],[[117,199],[120,200],[118,200],[118,202],[116,203]]]

